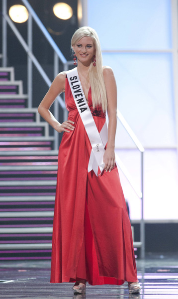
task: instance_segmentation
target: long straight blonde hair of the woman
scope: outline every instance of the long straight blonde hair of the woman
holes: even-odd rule
[[[87,81],[90,83],[91,87],[93,108],[100,105],[105,112],[107,110],[107,96],[102,73],[101,46],[96,31],[87,26],[79,28],[71,39],[71,47],[73,49],[73,46],[85,36],[90,36],[95,46],[96,66],[93,66],[91,62],[87,75]]]

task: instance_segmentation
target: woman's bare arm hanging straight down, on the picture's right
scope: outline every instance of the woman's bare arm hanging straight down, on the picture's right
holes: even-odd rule
[[[103,68],[104,83],[107,94],[108,114],[108,142],[104,152],[103,161],[105,171],[111,171],[115,165],[115,133],[117,126],[117,87],[112,69],[108,66]]]

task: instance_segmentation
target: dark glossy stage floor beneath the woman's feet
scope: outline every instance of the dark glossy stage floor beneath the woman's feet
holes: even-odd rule
[[[73,296],[73,283],[50,284],[50,261],[1,261],[0,299],[178,299],[178,256],[152,255],[137,260],[140,295],[122,286],[90,286]]]

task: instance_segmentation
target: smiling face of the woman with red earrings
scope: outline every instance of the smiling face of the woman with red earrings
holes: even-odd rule
[[[95,54],[95,47],[91,37],[85,36],[81,38],[74,46],[78,63],[79,61],[85,66],[89,66]]]

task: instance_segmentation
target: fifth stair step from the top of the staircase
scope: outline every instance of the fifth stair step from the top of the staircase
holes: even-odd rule
[[[28,136],[49,136],[47,123],[1,123],[0,137],[28,137]]]

